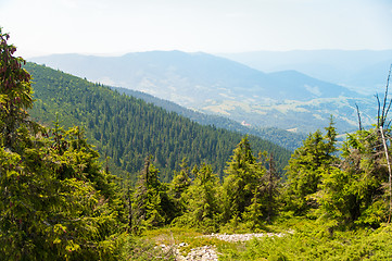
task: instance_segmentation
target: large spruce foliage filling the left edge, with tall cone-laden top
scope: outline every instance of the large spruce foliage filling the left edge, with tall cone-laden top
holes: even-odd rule
[[[80,128],[27,120],[29,75],[0,35],[0,259],[116,260],[123,208],[114,176]]]

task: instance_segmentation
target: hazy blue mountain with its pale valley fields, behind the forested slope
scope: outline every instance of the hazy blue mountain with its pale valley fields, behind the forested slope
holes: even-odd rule
[[[264,73],[201,52],[53,54],[31,61],[257,127],[308,133],[327,126],[332,114],[339,130],[347,132],[357,125],[356,103],[364,124],[372,123],[377,109],[372,98],[298,71]]]

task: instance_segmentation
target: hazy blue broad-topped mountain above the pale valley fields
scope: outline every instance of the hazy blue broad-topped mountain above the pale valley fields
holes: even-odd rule
[[[187,107],[205,103],[211,98],[283,101],[356,95],[341,86],[293,71],[284,75],[265,74],[202,52],[152,51],[112,58],[53,54],[31,60],[94,82],[141,90]],[[287,78],[281,80],[281,76]],[[318,90],[314,91],[313,87],[318,87]]]

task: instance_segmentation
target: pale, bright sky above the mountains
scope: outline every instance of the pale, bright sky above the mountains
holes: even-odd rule
[[[392,49],[392,0],[0,0],[17,55]]]

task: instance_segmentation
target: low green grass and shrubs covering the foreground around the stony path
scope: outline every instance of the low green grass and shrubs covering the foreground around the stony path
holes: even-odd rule
[[[324,224],[306,219],[290,219],[268,227],[274,232],[288,232],[283,237],[254,238],[246,243],[227,243],[189,228],[166,227],[144,232],[139,240],[152,246],[178,246],[186,256],[192,248],[215,246],[219,261],[252,260],[392,260],[392,225],[378,229],[336,231],[330,233]],[[155,253],[156,254],[156,253]],[[162,254],[161,254],[162,256]],[[174,256],[172,256],[174,257]],[[137,260],[137,259],[135,259]],[[175,260],[144,259],[139,260]]]

